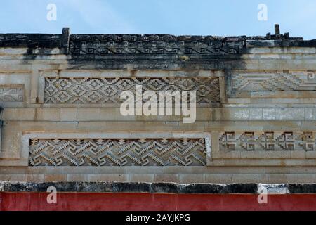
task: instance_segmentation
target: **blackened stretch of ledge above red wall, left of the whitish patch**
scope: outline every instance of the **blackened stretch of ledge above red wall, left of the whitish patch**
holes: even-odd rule
[[[58,192],[125,192],[125,193],[256,193],[256,184],[175,184],[122,182],[0,182],[4,192],[46,192],[53,186]]]

